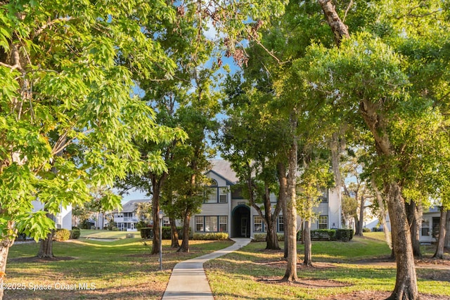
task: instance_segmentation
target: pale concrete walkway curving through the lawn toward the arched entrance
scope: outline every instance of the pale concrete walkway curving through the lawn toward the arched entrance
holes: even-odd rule
[[[236,251],[250,242],[250,239],[243,238],[233,238],[231,240],[235,241],[235,243],[230,247],[177,263],[172,270],[172,275],[170,275],[166,291],[162,295],[162,300],[214,300],[210,284],[207,281],[205,270],[203,269],[203,263]]]

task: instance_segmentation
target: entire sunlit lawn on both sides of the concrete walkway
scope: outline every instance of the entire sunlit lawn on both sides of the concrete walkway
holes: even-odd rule
[[[82,237],[98,238],[96,234],[102,231],[82,230]],[[105,234],[108,236],[101,238],[113,238],[112,234],[124,237],[126,232]],[[123,237],[115,237],[120,240],[113,242],[86,238],[54,242],[57,259],[51,261],[34,257],[38,244],[15,244],[8,257],[6,283],[25,289],[6,290],[4,299],[160,299],[176,263],[232,243],[191,241],[191,253],[181,254],[165,240],[160,271],[158,255],[150,255],[151,241],[144,244],[140,238]],[[383,233],[365,233],[365,237],[346,243],[313,242],[314,267],[299,264],[300,281],[295,283],[279,281],[286,268],[283,253],[264,247],[264,242],[250,243],[205,263],[214,299],[382,299],[394,289],[394,263],[373,263],[390,256]],[[434,247],[422,250],[430,257]],[[298,252],[301,262],[301,244]],[[417,274],[421,299],[450,299],[449,268],[418,268]]]

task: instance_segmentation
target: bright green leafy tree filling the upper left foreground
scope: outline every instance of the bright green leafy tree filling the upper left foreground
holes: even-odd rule
[[[110,187],[127,172],[165,169],[158,153],[144,162],[132,138],[158,143],[180,134],[155,124],[153,110],[132,91],[130,70],[155,78],[160,67],[167,75],[174,69],[141,30],[144,20],[155,26],[175,20],[165,2],[1,1],[0,11],[4,272],[16,230],[44,238],[54,228],[46,213],[89,201],[90,187]],[[68,150],[75,145],[77,155]],[[32,211],[35,199],[45,211]],[[101,202],[113,209],[120,197]]]

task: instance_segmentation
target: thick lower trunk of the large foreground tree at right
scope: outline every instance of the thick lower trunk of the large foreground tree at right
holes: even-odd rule
[[[397,261],[397,278],[394,291],[387,299],[416,300],[419,299],[416,266],[414,266],[411,232],[404,199],[397,183],[387,183],[387,205],[392,226],[394,254]]]

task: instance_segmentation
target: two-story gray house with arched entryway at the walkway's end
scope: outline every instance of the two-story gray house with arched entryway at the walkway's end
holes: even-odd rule
[[[191,219],[194,233],[229,233],[229,237],[255,237],[257,233],[264,233],[264,222],[256,209],[250,207],[238,190],[231,187],[236,185],[238,178],[226,160],[212,160],[212,169],[206,176],[211,178],[212,185],[207,187],[210,193],[205,193],[205,200],[200,213]],[[340,194],[336,189],[329,189],[323,193],[322,201],[317,207],[318,219],[311,223],[311,229],[341,228],[342,205]],[[275,195],[271,195],[272,204],[276,204]],[[301,219],[297,219],[300,228]],[[276,221],[278,233],[284,232],[283,214]]]

